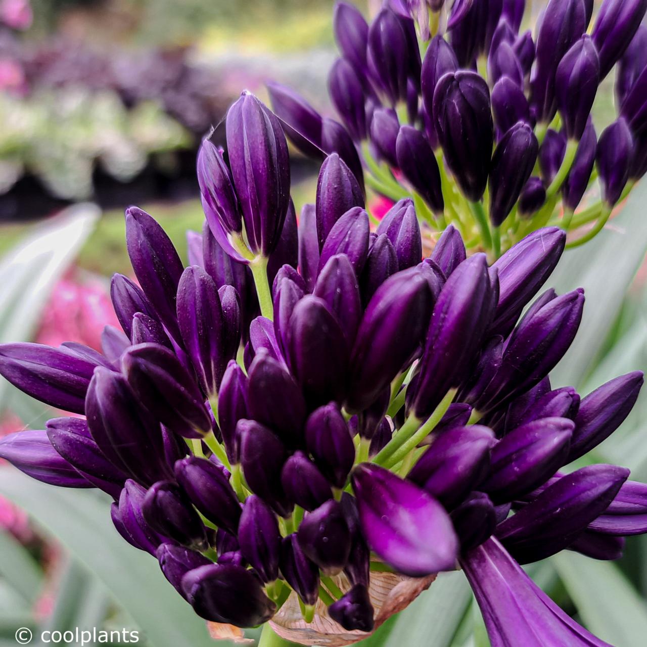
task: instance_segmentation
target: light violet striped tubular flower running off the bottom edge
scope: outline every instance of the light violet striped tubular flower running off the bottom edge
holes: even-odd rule
[[[492,644],[609,647],[564,613],[495,538],[468,553],[461,565]]]

